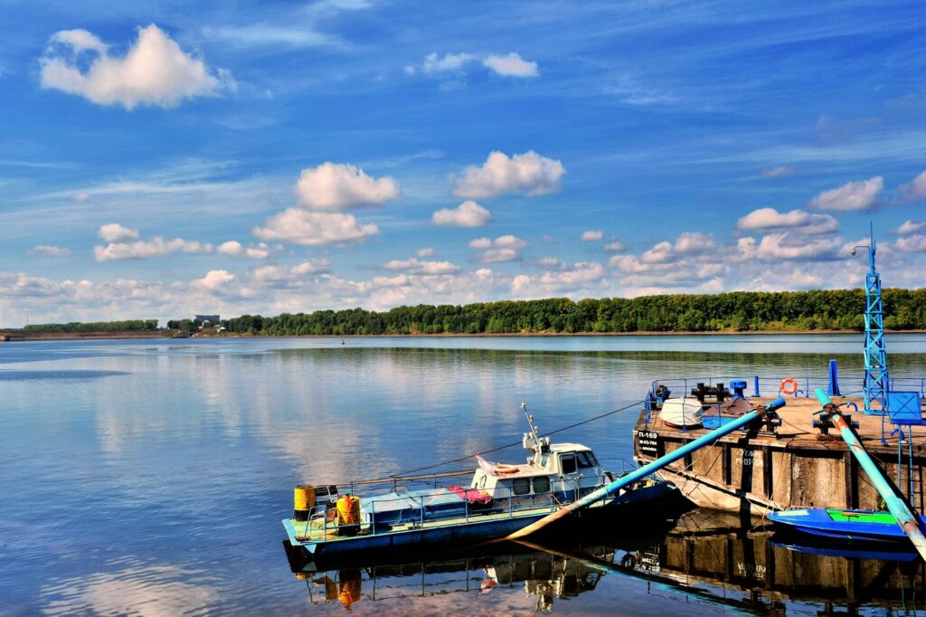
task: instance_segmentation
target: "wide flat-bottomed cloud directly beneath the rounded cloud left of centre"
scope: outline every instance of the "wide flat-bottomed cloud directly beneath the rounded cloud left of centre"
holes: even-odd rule
[[[353,245],[380,233],[373,223],[360,224],[352,214],[307,212],[287,208],[252,230],[261,240],[282,240],[303,246]]]

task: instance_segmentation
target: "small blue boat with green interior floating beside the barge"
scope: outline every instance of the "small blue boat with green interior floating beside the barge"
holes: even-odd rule
[[[767,516],[782,529],[803,534],[861,542],[909,542],[890,512],[805,508],[770,512]],[[926,526],[926,517],[919,518],[920,525]]]

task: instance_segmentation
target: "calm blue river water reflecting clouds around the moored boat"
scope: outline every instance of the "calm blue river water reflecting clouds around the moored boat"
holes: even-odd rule
[[[895,375],[926,373],[926,336],[887,347]],[[589,548],[597,568],[511,548],[303,580],[285,559],[295,484],[518,441],[521,401],[543,432],[639,401],[660,377],[821,375],[830,358],[859,371],[861,335],[0,343],[0,613],[916,608],[922,571],[906,556],[795,553],[705,512]],[[619,468],[636,415],[558,436]]]

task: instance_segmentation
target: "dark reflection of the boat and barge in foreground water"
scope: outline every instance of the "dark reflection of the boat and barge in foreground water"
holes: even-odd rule
[[[585,535],[546,546],[504,543],[427,558],[327,563],[287,548],[287,558],[309,601],[335,612],[394,612],[413,598],[415,611],[533,613],[569,610],[563,600],[579,596],[587,596],[583,613],[664,615],[675,612],[673,598],[684,598],[691,613],[834,615],[879,607],[912,614],[924,608],[918,592],[926,572],[915,553],[896,546],[846,551],[782,544],[754,523],[761,521],[692,510],[661,533],[641,528],[635,538],[625,530],[623,537]]]

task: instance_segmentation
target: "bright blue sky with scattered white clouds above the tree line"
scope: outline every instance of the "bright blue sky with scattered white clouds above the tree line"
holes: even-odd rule
[[[0,327],[926,286],[919,2],[0,14]]]

